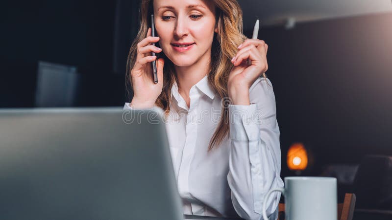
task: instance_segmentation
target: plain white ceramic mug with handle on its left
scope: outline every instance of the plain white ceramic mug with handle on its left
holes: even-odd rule
[[[334,177],[285,177],[285,188],[271,189],[266,201],[274,191],[285,196],[286,220],[337,220],[338,190]],[[263,218],[268,220],[266,203]]]

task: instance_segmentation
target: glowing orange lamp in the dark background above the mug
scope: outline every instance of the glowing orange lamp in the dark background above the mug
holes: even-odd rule
[[[294,143],[287,152],[287,166],[290,170],[305,170],[308,166],[308,153],[302,143]]]

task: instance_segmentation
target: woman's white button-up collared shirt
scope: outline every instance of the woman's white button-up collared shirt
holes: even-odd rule
[[[268,81],[268,83],[267,83]],[[258,78],[249,89],[251,105],[229,105],[230,135],[208,152],[209,141],[221,118],[221,99],[208,85],[207,76],[190,90],[190,107],[172,87],[166,130],[184,214],[277,218],[281,154],[275,96],[270,80]],[[124,110],[130,109],[125,103]]]

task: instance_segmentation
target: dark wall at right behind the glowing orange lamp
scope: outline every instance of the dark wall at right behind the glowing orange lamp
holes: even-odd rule
[[[259,39],[269,45],[283,158],[296,141],[313,150],[316,170],[392,155],[392,13],[267,27]],[[291,174],[286,161],[282,173]]]

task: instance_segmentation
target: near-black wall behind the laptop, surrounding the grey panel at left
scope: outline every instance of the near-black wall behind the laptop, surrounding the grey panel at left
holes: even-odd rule
[[[78,68],[83,76],[80,106],[123,103],[124,74],[113,72],[115,3],[4,2],[0,24],[0,107],[34,106],[38,61]]]

